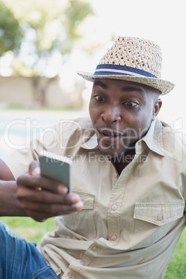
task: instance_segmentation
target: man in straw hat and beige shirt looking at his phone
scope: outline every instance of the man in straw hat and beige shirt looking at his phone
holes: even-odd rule
[[[64,121],[3,158],[1,215],[58,217],[37,247],[1,223],[2,278],[164,278],[185,227],[186,154],[156,118],[174,88],[161,61],[154,42],[118,37],[94,74],[78,72],[94,82],[91,120]],[[40,176],[42,149],[73,160],[73,193]]]

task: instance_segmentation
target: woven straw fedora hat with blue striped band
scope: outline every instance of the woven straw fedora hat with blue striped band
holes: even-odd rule
[[[161,79],[162,52],[158,44],[138,37],[117,37],[101,58],[94,74],[78,71],[87,81],[114,78],[149,85],[168,94],[174,83]]]

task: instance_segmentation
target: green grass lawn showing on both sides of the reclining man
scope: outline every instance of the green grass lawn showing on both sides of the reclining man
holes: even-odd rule
[[[53,232],[55,228],[53,218],[47,219],[44,223],[26,217],[1,217],[0,220],[10,226],[17,235],[37,243],[44,233]],[[179,239],[165,276],[165,279],[178,278],[186,279],[186,228]]]

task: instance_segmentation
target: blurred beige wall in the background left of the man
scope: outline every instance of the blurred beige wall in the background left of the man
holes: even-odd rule
[[[63,81],[58,76],[0,76],[0,103],[27,108],[49,106],[80,109],[83,105],[83,89],[83,78],[71,80],[68,88],[65,78]]]

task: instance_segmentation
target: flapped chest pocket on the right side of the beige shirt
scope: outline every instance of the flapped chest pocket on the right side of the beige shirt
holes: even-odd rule
[[[136,203],[130,248],[143,248],[158,242],[169,233],[176,220],[183,217],[184,208],[184,202]]]

